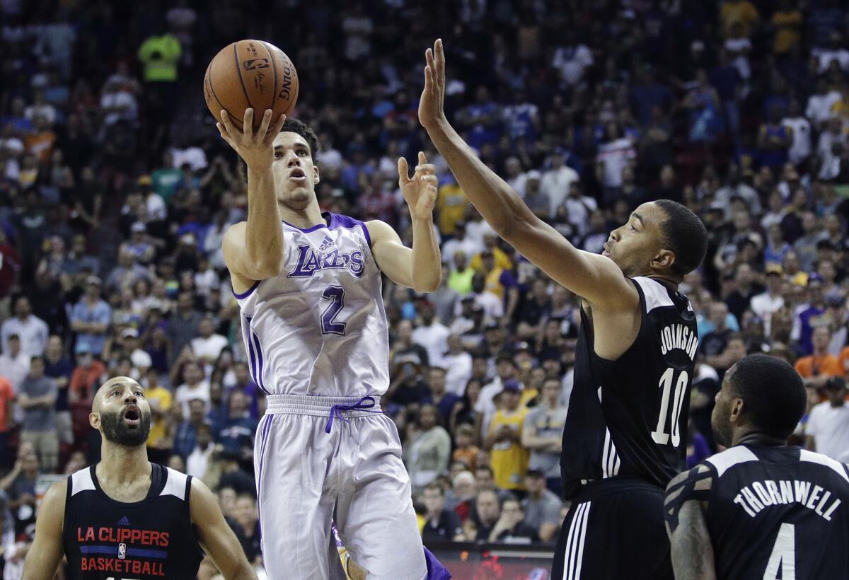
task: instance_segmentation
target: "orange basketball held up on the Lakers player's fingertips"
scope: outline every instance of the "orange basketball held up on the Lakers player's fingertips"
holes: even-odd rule
[[[273,111],[273,124],[295,108],[298,73],[286,53],[272,43],[240,40],[222,48],[206,67],[204,98],[216,121],[221,121],[221,110],[227,110],[239,129],[245,109],[253,107],[256,131],[266,109]]]

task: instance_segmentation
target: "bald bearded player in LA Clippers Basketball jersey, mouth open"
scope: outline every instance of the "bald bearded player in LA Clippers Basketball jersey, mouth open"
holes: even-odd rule
[[[256,580],[209,488],[149,463],[142,386],[124,376],[106,381],[88,421],[103,438],[102,459],[44,495],[24,580],[53,580],[63,555],[70,580],[194,580],[199,544],[228,580]]]

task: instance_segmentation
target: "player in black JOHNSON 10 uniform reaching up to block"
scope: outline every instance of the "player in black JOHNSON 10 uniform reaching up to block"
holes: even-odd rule
[[[560,466],[571,509],[553,578],[672,578],[666,484],[683,465],[698,346],[683,275],[699,267],[706,230],[684,206],[639,206],[599,256],[536,217],[447,121],[442,42],[425,54],[419,121],[486,222],[582,298],[574,387]]]

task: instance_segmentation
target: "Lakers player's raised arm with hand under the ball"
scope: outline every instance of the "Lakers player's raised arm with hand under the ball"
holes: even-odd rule
[[[253,132],[253,109],[245,110],[241,130],[233,126],[227,111],[222,110],[218,132],[245,160],[248,168],[248,221],[233,224],[222,242],[224,262],[230,273],[245,283],[276,276],[283,264],[283,230],[274,187],[273,141],[283,127],[286,115],[271,124],[271,110],[266,110],[256,134]]]

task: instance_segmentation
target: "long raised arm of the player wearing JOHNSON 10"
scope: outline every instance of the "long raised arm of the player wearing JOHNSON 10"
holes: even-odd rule
[[[419,121],[481,216],[501,238],[550,278],[594,306],[633,309],[639,299],[637,290],[616,263],[578,250],[535,216],[519,194],[484,165],[454,131],[442,109],[445,54],[441,40],[436,41],[432,50],[427,50],[425,58]]]

